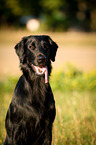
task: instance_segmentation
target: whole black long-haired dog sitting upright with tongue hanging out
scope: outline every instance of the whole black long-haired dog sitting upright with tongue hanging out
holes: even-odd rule
[[[7,112],[4,145],[51,145],[55,101],[48,78],[57,48],[47,35],[24,37],[15,46],[23,75]]]

